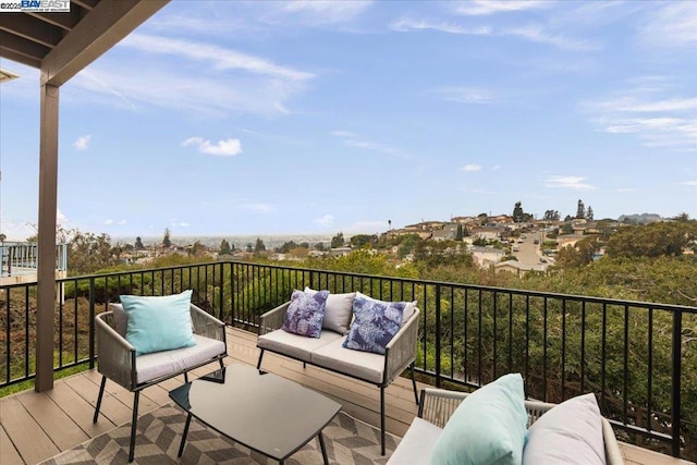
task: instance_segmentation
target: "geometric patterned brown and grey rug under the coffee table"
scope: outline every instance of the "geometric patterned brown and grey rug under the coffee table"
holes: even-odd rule
[[[166,405],[138,419],[135,464],[276,464],[261,454],[236,444],[196,419],[192,420],[186,446],[176,456],[186,414]],[[331,464],[384,464],[400,439],[387,435],[387,455],[380,455],[380,431],[343,412],[323,429],[325,445]],[[125,464],[129,461],[131,424],[90,439],[44,464]],[[289,465],[321,464],[319,441],[315,438],[293,454]]]

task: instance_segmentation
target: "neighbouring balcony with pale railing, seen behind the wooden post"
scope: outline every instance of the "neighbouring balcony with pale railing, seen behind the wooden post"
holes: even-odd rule
[[[38,244],[3,242],[0,244],[0,285],[32,283],[37,280]],[[56,246],[56,278],[68,277],[68,244]]]

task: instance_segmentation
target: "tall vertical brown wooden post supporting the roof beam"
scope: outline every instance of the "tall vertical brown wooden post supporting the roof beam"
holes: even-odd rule
[[[53,388],[56,216],[58,208],[58,86],[41,86],[39,140],[39,253],[37,265],[37,392]]]

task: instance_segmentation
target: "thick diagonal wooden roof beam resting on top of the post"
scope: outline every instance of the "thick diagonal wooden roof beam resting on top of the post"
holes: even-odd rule
[[[41,62],[41,85],[60,86],[131,34],[169,0],[98,3]]]

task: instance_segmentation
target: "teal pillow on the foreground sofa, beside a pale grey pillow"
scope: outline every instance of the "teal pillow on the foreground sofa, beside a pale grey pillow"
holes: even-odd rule
[[[521,465],[527,439],[523,377],[504,375],[467,395],[431,453],[432,465]]]

